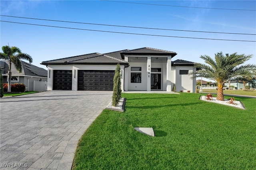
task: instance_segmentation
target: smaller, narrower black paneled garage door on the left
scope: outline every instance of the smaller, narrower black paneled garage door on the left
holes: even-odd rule
[[[72,70],[53,71],[54,90],[72,90]]]

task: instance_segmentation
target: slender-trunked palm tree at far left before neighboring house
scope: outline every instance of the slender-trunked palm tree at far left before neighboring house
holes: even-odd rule
[[[8,67],[8,92],[11,92],[11,78],[12,78],[12,63],[14,67],[21,73],[22,64],[20,59],[26,59],[29,63],[32,63],[33,59],[30,55],[22,53],[18,47],[10,47],[9,45],[2,47],[3,53],[0,53],[0,59],[7,60],[9,62]]]

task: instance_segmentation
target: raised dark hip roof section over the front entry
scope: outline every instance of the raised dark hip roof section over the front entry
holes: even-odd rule
[[[166,55],[166,56],[170,55],[171,57],[174,57],[175,55],[177,55],[177,53],[172,51],[162,50],[162,49],[143,47],[143,48],[132,49],[132,50],[121,52],[122,59],[124,59],[124,55]]]

